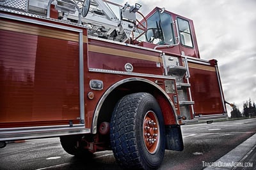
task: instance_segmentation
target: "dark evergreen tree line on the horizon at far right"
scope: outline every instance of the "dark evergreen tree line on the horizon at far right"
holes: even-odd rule
[[[252,100],[246,101],[243,103],[243,112],[239,110],[236,104],[233,104],[231,118],[239,118],[239,117],[256,117],[256,104],[252,103]]]

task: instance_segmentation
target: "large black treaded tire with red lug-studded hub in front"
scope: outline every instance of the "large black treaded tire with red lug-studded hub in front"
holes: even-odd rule
[[[154,117],[158,127],[157,137],[148,138],[146,135],[148,117]],[[148,126],[149,130],[156,125]],[[157,142],[153,149],[156,143],[150,143],[150,139]],[[164,120],[159,104],[151,94],[129,94],[118,101],[111,117],[110,141],[116,162],[121,167],[157,169],[160,166],[165,149]]]

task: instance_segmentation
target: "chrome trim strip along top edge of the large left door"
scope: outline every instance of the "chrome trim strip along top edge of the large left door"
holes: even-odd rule
[[[31,24],[38,24],[38,25],[44,25],[44,26],[47,26],[47,27],[65,29],[67,31],[83,32],[83,29],[76,29],[74,27],[67,27],[67,26],[64,26],[64,25],[52,24],[52,23],[49,23],[49,22],[43,22],[43,21],[40,21],[40,20],[18,17],[18,16],[8,15],[8,14],[4,14],[4,13],[0,13],[0,18],[8,18],[8,19],[12,19],[12,20],[19,20],[19,21],[22,21],[22,22],[29,22]]]

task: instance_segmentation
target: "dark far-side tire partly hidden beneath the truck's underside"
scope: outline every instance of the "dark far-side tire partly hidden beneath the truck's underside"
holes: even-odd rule
[[[76,157],[91,158],[93,153],[81,146],[81,136],[60,136],[60,143],[65,152]]]

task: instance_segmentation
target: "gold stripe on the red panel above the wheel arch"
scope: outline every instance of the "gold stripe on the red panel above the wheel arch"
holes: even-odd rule
[[[135,52],[127,52],[124,50],[116,50],[114,48],[108,48],[103,46],[89,45],[89,51],[97,52],[97,53],[105,53],[109,55],[118,55],[122,57],[129,57],[132,59],[142,59],[142,60],[150,60],[154,62],[162,62],[160,57],[155,57],[152,55],[145,55],[145,54],[135,53]]]

